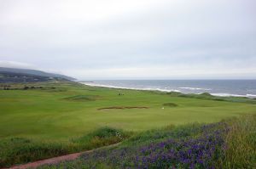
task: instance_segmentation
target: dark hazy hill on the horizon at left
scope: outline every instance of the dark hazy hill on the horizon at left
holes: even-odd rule
[[[0,67],[0,82],[48,82],[73,81],[75,78],[41,70],[26,70]]]

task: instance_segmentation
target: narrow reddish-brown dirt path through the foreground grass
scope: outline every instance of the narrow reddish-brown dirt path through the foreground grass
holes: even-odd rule
[[[119,144],[120,143],[112,144],[112,145],[108,145],[108,146],[101,147],[101,148],[98,148],[98,149],[105,149],[105,148],[115,147]],[[95,150],[96,149],[91,149],[91,150],[88,150],[88,151],[83,151],[83,152],[74,153],[74,154],[70,154],[70,155],[62,155],[62,156],[58,156],[58,157],[54,157],[54,158],[50,158],[50,159],[46,159],[46,160],[42,160],[42,161],[30,162],[30,163],[19,165],[19,166],[11,166],[9,168],[10,169],[37,168],[38,166],[43,166],[43,165],[46,165],[46,164],[56,164],[56,163],[59,163],[61,161],[73,161],[73,160],[79,158],[80,155],[83,155],[84,153],[91,153]]]

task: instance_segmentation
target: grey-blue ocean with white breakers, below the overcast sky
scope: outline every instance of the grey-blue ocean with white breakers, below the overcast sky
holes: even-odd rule
[[[105,80],[90,86],[256,98],[256,80]]]

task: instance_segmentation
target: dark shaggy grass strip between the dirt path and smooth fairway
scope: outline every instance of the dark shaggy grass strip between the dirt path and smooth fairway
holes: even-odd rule
[[[73,152],[96,149],[116,144],[128,138],[131,132],[102,127],[69,142],[43,142],[27,138],[9,138],[0,141],[0,167],[38,161]]]

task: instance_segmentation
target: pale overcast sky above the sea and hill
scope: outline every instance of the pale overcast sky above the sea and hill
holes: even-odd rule
[[[0,0],[0,66],[87,79],[256,79],[255,0]]]

